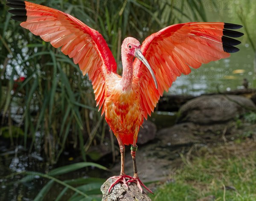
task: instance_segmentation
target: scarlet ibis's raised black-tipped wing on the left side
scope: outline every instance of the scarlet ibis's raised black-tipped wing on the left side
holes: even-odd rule
[[[23,0],[7,1],[7,6],[15,8],[9,10],[15,14],[12,19],[53,47],[62,46],[61,51],[79,64],[83,74],[88,73],[100,109],[105,101],[105,76],[116,73],[116,61],[102,35],[62,11]]]

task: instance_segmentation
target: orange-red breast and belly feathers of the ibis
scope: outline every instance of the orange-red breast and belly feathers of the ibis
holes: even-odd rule
[[[105,118],[115,135],[135,135],[137,138],[143,123],[139,91],[134,88],[124,91],[120,82],[121,79],[106,82]]]

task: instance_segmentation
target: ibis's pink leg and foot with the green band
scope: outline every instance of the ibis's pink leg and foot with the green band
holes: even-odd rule
[[[131,145],[131,157],[133,160],[133,165],[134,165],[134,177],[132,179],[129,179],[128,181],[126,181],[126,183],[128,182],[135,182],[137,183],[137,186],[139,187],[141,193],[143,192],[142,187],[143,186],[146,190],[148,190],[150,193],[153,193],[151,190],[149,190],[145,184],[143,184],[142,181],[140,181],[140,178],[138,176],[138,171],[137,171],[137,165],[136,165],[136,159],[135,159],[135,155],[136,155],[136,151],[137,151],[138,146],[136,145],[136,143],[134,143],[133,145]]]

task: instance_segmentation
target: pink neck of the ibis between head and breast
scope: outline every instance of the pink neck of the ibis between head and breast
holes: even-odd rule
[[[133,78],[133,56],[128,54],[122,54],[122,65],[123,65],[123,72],[122,72],[122,80],[121,85],[123,90],[131,89],[132,85],[132,78]]]

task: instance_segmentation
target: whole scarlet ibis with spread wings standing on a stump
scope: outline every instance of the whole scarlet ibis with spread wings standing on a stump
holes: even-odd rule
[[[163,28],[150,35],[140,45],[135,38],[122,42],[122,76],[116,73],[116,61],[107,42],[98,31],[80,20],[46,6],[23,0],[7,0],[12,19],[21,21],[23,28],[39,35],[53,47],[79,64],[82,73],[92,81],[95,100],[117,138],[121,153],[121,173],[109,188],[122,182],[137,183],[141,191],[136,166],[137,136],[143,119],[154,111],[156,104],[181,74],[189,74],[189,67],[216,61],[239,51],[233,45],[241,42],[230,37],[243,34],[231,29],[241,25],[212,23],[182,23]],[[136,57],[134,59],[134,57]],[[134,176],[125,175],[125,146],[131,144]],[[152,193],[147,187],[146,190]]]

